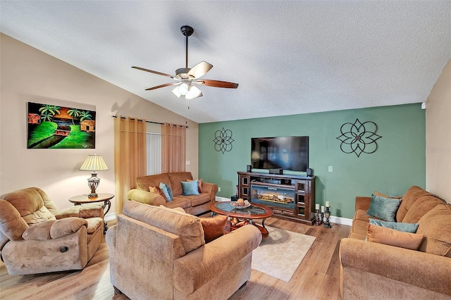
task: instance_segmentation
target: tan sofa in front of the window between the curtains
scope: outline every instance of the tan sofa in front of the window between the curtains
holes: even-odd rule
[[[128,192],[128,199],[154,206],[166,206],[168,208],[180,207],[186,213],[199,215],[209,211],[209,204],[214,203],[218,186],[213,183],[201,182],[199,194],[183,195],[181,182],[192,180],[190,172],[163,173],[137,177],[136,188]],[[149,188],[159,187],[163,183],[167,185],[173,194],[173,199],[168,201],[166,197],[157,192],[149,192]]]

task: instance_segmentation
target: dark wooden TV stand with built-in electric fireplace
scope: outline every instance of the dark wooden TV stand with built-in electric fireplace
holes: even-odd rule
[[[264,204],[274,217],[313,225],[316,176],[238,172],[238,197]]]

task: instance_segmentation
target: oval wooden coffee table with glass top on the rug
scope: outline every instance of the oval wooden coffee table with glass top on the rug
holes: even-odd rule
[[[274,214],[271,208],[261,204],[251,204],[251,206],[247,208],[236,208],[235,206],[231,206],[231,203],[231,201],[215,202],[214,204],[211,203],[209,205],[211,215],[218,213],[220,215],[228,215],[231,218],[243,219],[243,221],[237,223],[235,226],[230,224],[230,231],[243,225],[252,224],[259,228],[263,238],[268,237],[268,230],[265,227],[265,220]],[[253,220],[255,219],[261,219],[261,226],[254,223]]]

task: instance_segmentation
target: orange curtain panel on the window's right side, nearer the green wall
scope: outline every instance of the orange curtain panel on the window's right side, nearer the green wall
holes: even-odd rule
[[[186,126],[161,125],[161,173],[184,172],[186,165]]]

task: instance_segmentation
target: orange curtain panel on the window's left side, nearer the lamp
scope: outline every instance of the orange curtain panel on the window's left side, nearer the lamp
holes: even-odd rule
[[[119,214],[128,191],[136,187],[136,177],[146,175],[146,120],[114,119],[114,175]]]

